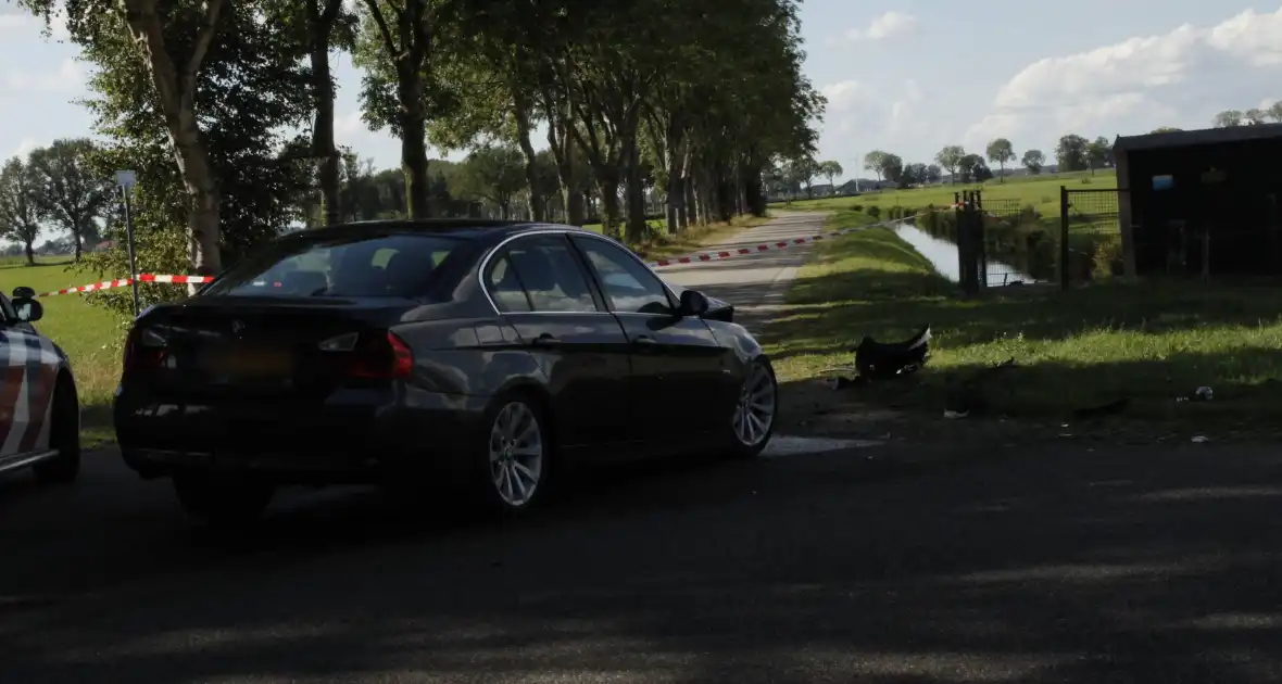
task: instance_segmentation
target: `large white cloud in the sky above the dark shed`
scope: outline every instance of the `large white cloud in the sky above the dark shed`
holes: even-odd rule
[[[1213,27],[1185,24],[1035,61],[997,91],[964,143],[978,147],[997,136],[1018,141],[1047,132],[1113,137],[1160,126],[1209,127],[1215,111],[1246,109],[1273,95],[1278,77],[1282,9],[1249,9]]]

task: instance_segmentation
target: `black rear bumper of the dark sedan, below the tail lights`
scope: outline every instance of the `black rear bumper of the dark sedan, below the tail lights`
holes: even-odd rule
[[[341,391],[323,403],[156,401],[122,391],[117,441],[144,478],[249,474],[281,484],[455,475],[478,452],[487,400],[420,391]]]

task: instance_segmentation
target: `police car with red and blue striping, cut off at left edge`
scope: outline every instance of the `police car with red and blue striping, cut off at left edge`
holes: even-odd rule
[[[79,400],[67,355],[32,325],[42,315],[29,287],[0,292],[0,474],[65,483],[79,474]]]

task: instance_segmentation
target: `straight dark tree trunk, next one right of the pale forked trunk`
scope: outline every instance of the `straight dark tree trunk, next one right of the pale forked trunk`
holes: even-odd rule
[[[312,94],[315,119],[312,126],[312,154],[317,158],[320,182],[320,215],[324,225],[342,223],[338,204],[338,150],[333,141],[333,77],[329,73],[329,32],[341,3],[327,0],[322,10],[318,0],[308,0],[312,32]]]

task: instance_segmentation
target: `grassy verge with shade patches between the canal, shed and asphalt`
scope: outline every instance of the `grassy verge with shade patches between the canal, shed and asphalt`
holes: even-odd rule
[[[828,227],[867,223],[836,213]],[[1123,415],[1188,428],[1282,416],[1282,318],[1276,291],[1201,283],[1101,284],[1060,292],[1024,287],[964,301],[891,231],[817,246],[767,332],[781,380],[853,364],[865,336],[892,341],[932,325],[932,359],[914,379],[860,388],[872,403],[941,411],[951,380],[1014,357],[986,383],[992,411],[1069,416],[1126,398]],[[1199,387],[1211,402],[1177,402]],[[936,414],[937,415],[937,414]]]

